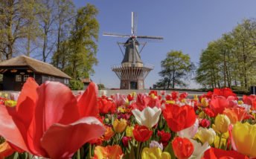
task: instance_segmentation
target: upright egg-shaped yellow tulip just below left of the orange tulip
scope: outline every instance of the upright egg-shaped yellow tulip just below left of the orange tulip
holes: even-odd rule
[[[230,124],[230,120],[228,119],[228,116],[224,114],[218,114],[215,118],[215,126],[218,132],[221,134],[228,132],[228,126]]]

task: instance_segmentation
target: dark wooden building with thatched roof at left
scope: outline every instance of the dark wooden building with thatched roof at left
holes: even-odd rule
[[[69,85],[69,77],[53,65],[32,59],[28,56],[17,56],[0,62],[0,74],[3,74],[3,90],[19,91],[28,77],[33,77],[41,85],[46,80],[54,80]]]

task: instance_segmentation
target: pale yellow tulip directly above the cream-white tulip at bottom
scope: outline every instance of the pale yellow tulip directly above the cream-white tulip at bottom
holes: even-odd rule
[[[211,143],[214,143],[216,133],[214,132],[214,129],[206,129],[199,127],[198,132],[196,133],[196,137],[202,142],[205,143],[206,141],[211,145]]]

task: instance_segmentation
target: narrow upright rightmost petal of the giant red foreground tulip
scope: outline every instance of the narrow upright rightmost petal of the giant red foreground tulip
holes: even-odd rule
[[[80,111],[80,117],[97,116],[99,108],[97,106],[97,85],[91,82],[78,100],[77,106]]]

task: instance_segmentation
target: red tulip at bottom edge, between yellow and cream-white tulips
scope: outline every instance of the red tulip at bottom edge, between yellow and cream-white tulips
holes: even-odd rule
[[[193,153],[193,143],[188,138],[176,137],[172,146],[174,154],[179,159],[189,158]]]

